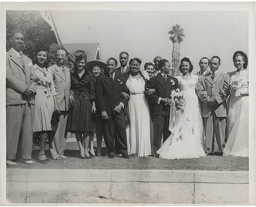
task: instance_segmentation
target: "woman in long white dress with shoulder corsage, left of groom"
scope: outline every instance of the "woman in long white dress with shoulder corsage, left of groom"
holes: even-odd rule
[[[145,157],[152,155],[153,128],[151,130],[150,109],[144,94],[149,77],[146,71],[140,71],[140,64],[140,59],[131,59],[130,71],[124,75],[126,86],[130,90],[130,101],[127,106],[130,124],[126,133],[128,154]]]

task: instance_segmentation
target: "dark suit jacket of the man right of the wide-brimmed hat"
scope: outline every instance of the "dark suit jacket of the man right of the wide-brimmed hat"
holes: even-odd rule
[[[123,103],[124,107],[127,104],[127,100],[122,98],[121,93],[130,94],[123,76],[115,73],[115,80],[113,82],[108,72],[99,75],[96,78],[95,92],[96,102],[100,112],[106,111],[108,115],[123,114],[123,109],[120,113],[114,111],[120,102]]]

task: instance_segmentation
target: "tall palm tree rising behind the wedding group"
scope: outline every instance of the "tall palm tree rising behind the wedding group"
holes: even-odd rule
[[[180,74],[180,44],[183,41],[185,35],[183,34],[184,29],[180,28],[179,24],[176,24],[168,32],[170,35],[169,39],[173,42],[173,53],[172,53],[172,75],[177,76]]]

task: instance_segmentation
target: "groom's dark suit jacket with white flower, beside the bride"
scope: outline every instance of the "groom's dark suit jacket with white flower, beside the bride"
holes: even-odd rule
[[[170,106],[157,103],[159,97],[161,98],[170,98],[170,94],[172,90],[176,90],[179,87],[178,79],[173,76],[167,75],[166,82],[161,73],[157,76],[154,76],[150,79],[150,84],[148,88],[154,88],[156,90],[155,93],[149,95],[150,100],[153,102],[153,113],[156,115],[168,115],[170,113]],[[173,84],[174,83],[174,84]]]

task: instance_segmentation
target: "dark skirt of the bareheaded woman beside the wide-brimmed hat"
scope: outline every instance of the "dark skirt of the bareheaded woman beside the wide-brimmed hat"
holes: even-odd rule
[[[66,126],[67,132],[89,131],[95,133],[95,123],[92,117],[92,103],[78,95],[69,109]]]

